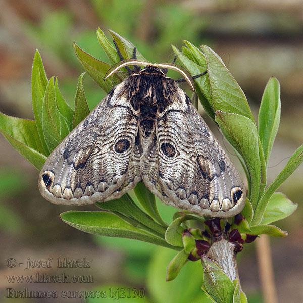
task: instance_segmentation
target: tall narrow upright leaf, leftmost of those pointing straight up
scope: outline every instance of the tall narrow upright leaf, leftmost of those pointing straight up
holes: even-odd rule
[[[49,155],[50,150],[46,145],[43,135],[43,128],[42,128],[42,105],[43,105],[43,98],[47,84],[48,84],[48,79],[45,74],[42,59],[38,50],[36,49],[36,53],[33,60],[32,75],[31,75],[32,104],[33,104],[33,112],[35,116],[38,134],[44,149],[43,154]]]

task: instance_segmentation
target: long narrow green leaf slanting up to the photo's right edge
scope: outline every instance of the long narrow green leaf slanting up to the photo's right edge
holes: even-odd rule
[[[255,209],[254,218],[251,224],[257,225],[261,222],[263,214],[270,197],[280,187],[280,185],[298,168],[303,161],[303,145],[301,145],[290,157],[286,166],[275,178],[275,180],[266,188],[265,192],[261,196],[259,203]]]

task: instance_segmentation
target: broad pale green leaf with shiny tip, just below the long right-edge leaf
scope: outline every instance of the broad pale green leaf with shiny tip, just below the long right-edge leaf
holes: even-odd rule
[[[269,199],[261,224],[269,224],[291,215],[297,208],[283,193],[275,192]]]

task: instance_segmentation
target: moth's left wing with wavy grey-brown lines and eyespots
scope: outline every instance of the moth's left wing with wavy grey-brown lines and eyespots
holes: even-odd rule
[[[44,198],[84,205],[120,197],[141,180],[137,117],[120,83],[58,145],[39,175]]]

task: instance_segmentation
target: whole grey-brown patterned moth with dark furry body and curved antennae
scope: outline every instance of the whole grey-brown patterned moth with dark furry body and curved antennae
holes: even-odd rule
[[[121,197],[143,181],[165,204],[201,216],[231,217],[245,204],[239,173],[177,82],[176,64],[127,59],[136,68],[58,145],[39,175],[55,204],[86,205]],[[139,66],[143,66],[141,69]]]

